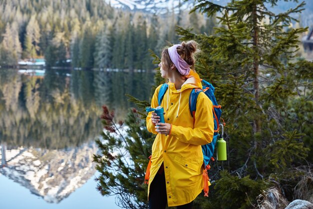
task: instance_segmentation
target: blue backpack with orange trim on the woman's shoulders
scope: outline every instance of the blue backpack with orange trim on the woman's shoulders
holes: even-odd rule
[[[203,164],[204,167],[206,165],[208,165],[211,157],[213,156],[214,153],[214,147],[216,144],[216,140],[219,137],[219,133],[218,133],[218,129],[219,129],[219,119],[220,119],[220,115],[221,115],[221,106],[217,104],[215,96],[214,96],[214,87],[207,81],[202,80],[202,89],[192,89],[190,96],[189,96],[189,110],[190,110],[190,114],[193,117],[193,121],[194,121],[194,114],[195,114],[195,107],[196,107],[196,99],[199,95],[200,92],[203,92],[212,102],[213,104],[213,120],[214,120],[214,135],[213,135],[213,139],[211,143],[202,145],[202,153],[203,153]],[[157,96],[157,102],[158,105],[161,105],[161,102],[163,100],[163,97],[165,95],[165,92],[168,88],[168,84],[164,83],[159,92],[158,92],[158,96]],[[208,118],[209,119],[209,118]]]

